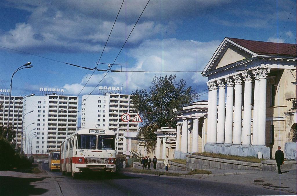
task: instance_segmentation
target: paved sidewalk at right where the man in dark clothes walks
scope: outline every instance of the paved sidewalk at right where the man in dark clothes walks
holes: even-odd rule
[[[165,169],[157,169],[154,171],[163,171]],[[282,174],[277,174],[277,171],[261,171],[261,170],[209,170],[212,174],[195,174],[195,175],[181,175],[181,176],[164,176],[169,178],[188,178],[200,179],[206,181],[225,182],[238,185],[262,186],[268,189],[276,189],[286,191],[290,194],[296,195],[297,180],[296,169],[283,170]],[[174,171],[168,170],[168,173],[186,174],[188,171]],[[123,169],[123,173],[126,173]],[[132,173],[131,173],[132,174]],[[135,173],[133,173],[135,174]],[[143,174],[141,174],[143,175]],[[152,174],[145,174],[152,175]],[[155,176],[155,175],[152,175]]]

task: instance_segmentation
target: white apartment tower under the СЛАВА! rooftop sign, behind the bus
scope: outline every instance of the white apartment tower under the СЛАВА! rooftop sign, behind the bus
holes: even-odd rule
[[[130,115],[129,122],[121,120],[124,113]],[[127,154],[124,133],[138,130],[138,123],[132,122],[136,114],[133,112],[132,95],[106,93],[82,96],[81,128],[114,130],[118,138],[118,154]]]

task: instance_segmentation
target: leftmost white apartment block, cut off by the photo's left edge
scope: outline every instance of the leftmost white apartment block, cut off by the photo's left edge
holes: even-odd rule
[[[1,89],[1,92],[3,89]],[[23,97],[22,96],[11,96],[10,102],[10,116],[9,124],[13,126],[14,131],[17,130],[18,125],[18,144],[20,145],[20,131],[22,128],[22,117],[23,117]],[[7,127],[8,119],[8,107],[9,107],[9,96],[0,94],[0,124]],[[18,118],[19,114],[19,118]]]

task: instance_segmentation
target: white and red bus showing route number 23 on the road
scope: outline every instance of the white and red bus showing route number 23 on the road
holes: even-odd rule
[[[116,133],[104,129],[81,129],[61,144],[63,175],[101,170],[116,171]]]

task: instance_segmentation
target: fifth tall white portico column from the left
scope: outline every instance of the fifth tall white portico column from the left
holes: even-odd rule
[[[250,72],[244,72],[242,76],[244,77],[242,145],[251,145],[252,74]]]

